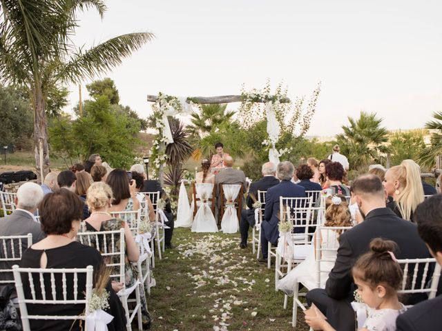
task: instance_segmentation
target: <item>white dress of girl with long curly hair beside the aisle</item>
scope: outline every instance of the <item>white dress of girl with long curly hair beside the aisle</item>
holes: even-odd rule
[[[321,243],[321,248],[337,248],[338,243],[338,232],[321,230],[321,237],[323,242]],[[327,235],[328,233],[328,235]],[[336,260],[336,251],[323,251],[323,259],[331,261],[322,261],[320,263],[320,269],[326,272],[321,272],[320,274],[320,288],[325,288],[325,282],[329,278],[328,272],[334,267],[334,261]],[[293,295],[294,287],[296,282],[302,283],[308,290],[317,287],[318,274],[316,272],[316,261],[314,245],[311,245],[310,252],[307,258],[300,264],[296,265],[284,278],[282,278],[278,283],[278,290],[285,292],[285,294]]]

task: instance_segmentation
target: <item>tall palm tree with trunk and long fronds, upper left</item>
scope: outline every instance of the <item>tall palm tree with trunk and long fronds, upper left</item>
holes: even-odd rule
[[[88,8],[101,17],[106,11],[102,0],[0,0],[0,83],[22,86],[30,94],[40,177],[49,170],[45,103],[50,89],[92,79],[153,38],[148,32],[130,33],[88,50],[77,48],[70,39],[77,28],[76,10]]]

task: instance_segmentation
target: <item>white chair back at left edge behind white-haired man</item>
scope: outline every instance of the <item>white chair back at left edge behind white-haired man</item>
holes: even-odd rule
[[[0,237],[0,265],[9,268],[1,269],[0,284],[14,283],[12,277],[12,263],[19,263],[23,254],[23,246],[29,248],[32,245],[32,234],[28,233],[23,236],[3,236]]]

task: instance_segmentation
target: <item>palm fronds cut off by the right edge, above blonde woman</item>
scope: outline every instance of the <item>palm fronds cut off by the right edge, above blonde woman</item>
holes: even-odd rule
[[[442,155],[442,112],[433,113],[433,121],[425,123],[425,129],[436,130],[431,135],[430,146],[426,146],[419,152],[419,163],[432,167],[435,158]]]

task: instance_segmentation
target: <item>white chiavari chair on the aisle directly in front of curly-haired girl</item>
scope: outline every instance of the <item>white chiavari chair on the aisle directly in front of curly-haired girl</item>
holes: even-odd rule
[[[320,208],[314,208],[311,201],[313,197],[286,198],[280,197],[280,217],[286,219],[293,225],[293,231],[289,240],[293,252],[289,256],[282,256],[280,250],[276,249],[274,254],[275,263],[275,290],[279,280],[291,269],[294,263],[300,263],[307,257],[311,248],[311,239],[316,230],[317,222],[314,221],[314,214]],[[280,241],[283,238],[280,238]],[[286,246],[287,243],[279,243]],[[289,252],[289,250],[287,250]],[[287,254],[285,254],[287,255]],[[290,267],[289,267],[290,265]],[[286,272],[284,272],[286,270]]]

